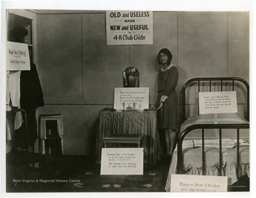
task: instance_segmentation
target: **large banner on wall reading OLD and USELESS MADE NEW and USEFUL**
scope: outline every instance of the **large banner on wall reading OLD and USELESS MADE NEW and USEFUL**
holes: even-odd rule
[[[106,11],[107,45],[153,44],[152,11]]]

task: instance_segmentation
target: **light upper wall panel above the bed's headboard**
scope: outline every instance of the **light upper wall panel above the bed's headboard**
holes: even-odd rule
[[[193,77],[226,77],[227,45],[228,13],[178,13],[178,87]]]

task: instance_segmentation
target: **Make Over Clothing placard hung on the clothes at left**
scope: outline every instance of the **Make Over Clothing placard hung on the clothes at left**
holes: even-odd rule
[[[28,44],[6,43],[6,70],[30,70]]]

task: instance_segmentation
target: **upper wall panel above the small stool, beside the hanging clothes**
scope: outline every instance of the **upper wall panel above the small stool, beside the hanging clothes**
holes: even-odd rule
[[[40,66],[46,102],[82,99],[80,14],[39,17]]]

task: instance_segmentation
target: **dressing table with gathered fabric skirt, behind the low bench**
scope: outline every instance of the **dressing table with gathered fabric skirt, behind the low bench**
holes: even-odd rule
[[[96,162],[100,163],[103,138],[112,133],[142,134],[144,136],[144,163],[159,160],[159,134],[156,129],[156,111],[100,111],[96,143]]]

